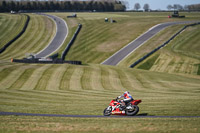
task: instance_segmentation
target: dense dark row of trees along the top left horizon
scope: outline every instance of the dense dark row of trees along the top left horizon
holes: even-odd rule
[[[0,1],[0,12],[10,11],[125,11],[118,0],[98,1]]]

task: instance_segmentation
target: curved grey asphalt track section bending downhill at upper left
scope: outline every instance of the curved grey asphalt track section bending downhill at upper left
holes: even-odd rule
[[[55,52],[62,46],[68,35],[68,27],[63,19],[53,15],[47,15],[47,14],[40,14],[40,15],[47,16],[55,22],[56,34],[54,38],[51,40],[51,42],[47,45],[47,47],[45,47],[42,51],[40,51],[35,55],[36,58],[47,57],[53,52]]]

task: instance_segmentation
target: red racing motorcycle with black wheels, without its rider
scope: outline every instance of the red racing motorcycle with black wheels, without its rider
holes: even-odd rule
[[[137,106],[139,103],[141,103],[142,100],[133,100],[129,102],[126,107],[122,107],[120,100],[113,99],[109,106],[104,109],[103,115],[104,116],[110,116],[112,115],[128,115],[133,116],[136,115],[139,112],[139,107]]]

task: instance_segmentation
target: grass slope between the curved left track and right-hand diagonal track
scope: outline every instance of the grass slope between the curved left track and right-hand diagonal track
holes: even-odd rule
[[[156,24],[198,19],[196,13],[187,14],[188,18],[181,20],[168,19],[168,14],[170,13],[77,13],[77,18],[70,19],[66,18],[71,15],[70,13],[53,15],[65,19],[69,27],[74,27],[70,29],[71,31],[74,31],[78,23],[83,25],[66,59],[80,60],[84,63],[101,63]],[[106,23],[105,18],[112,18],[117,23]],[[70,34],[73,34],[71,31]]]

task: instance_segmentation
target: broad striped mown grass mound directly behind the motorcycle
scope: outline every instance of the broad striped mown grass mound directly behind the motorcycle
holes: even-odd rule
[[[200,113],[198,76],[92,64],[1,63],[0,77],[1,111],[101,115],[111,99],[129,90],[143,100],[140,113]]]

